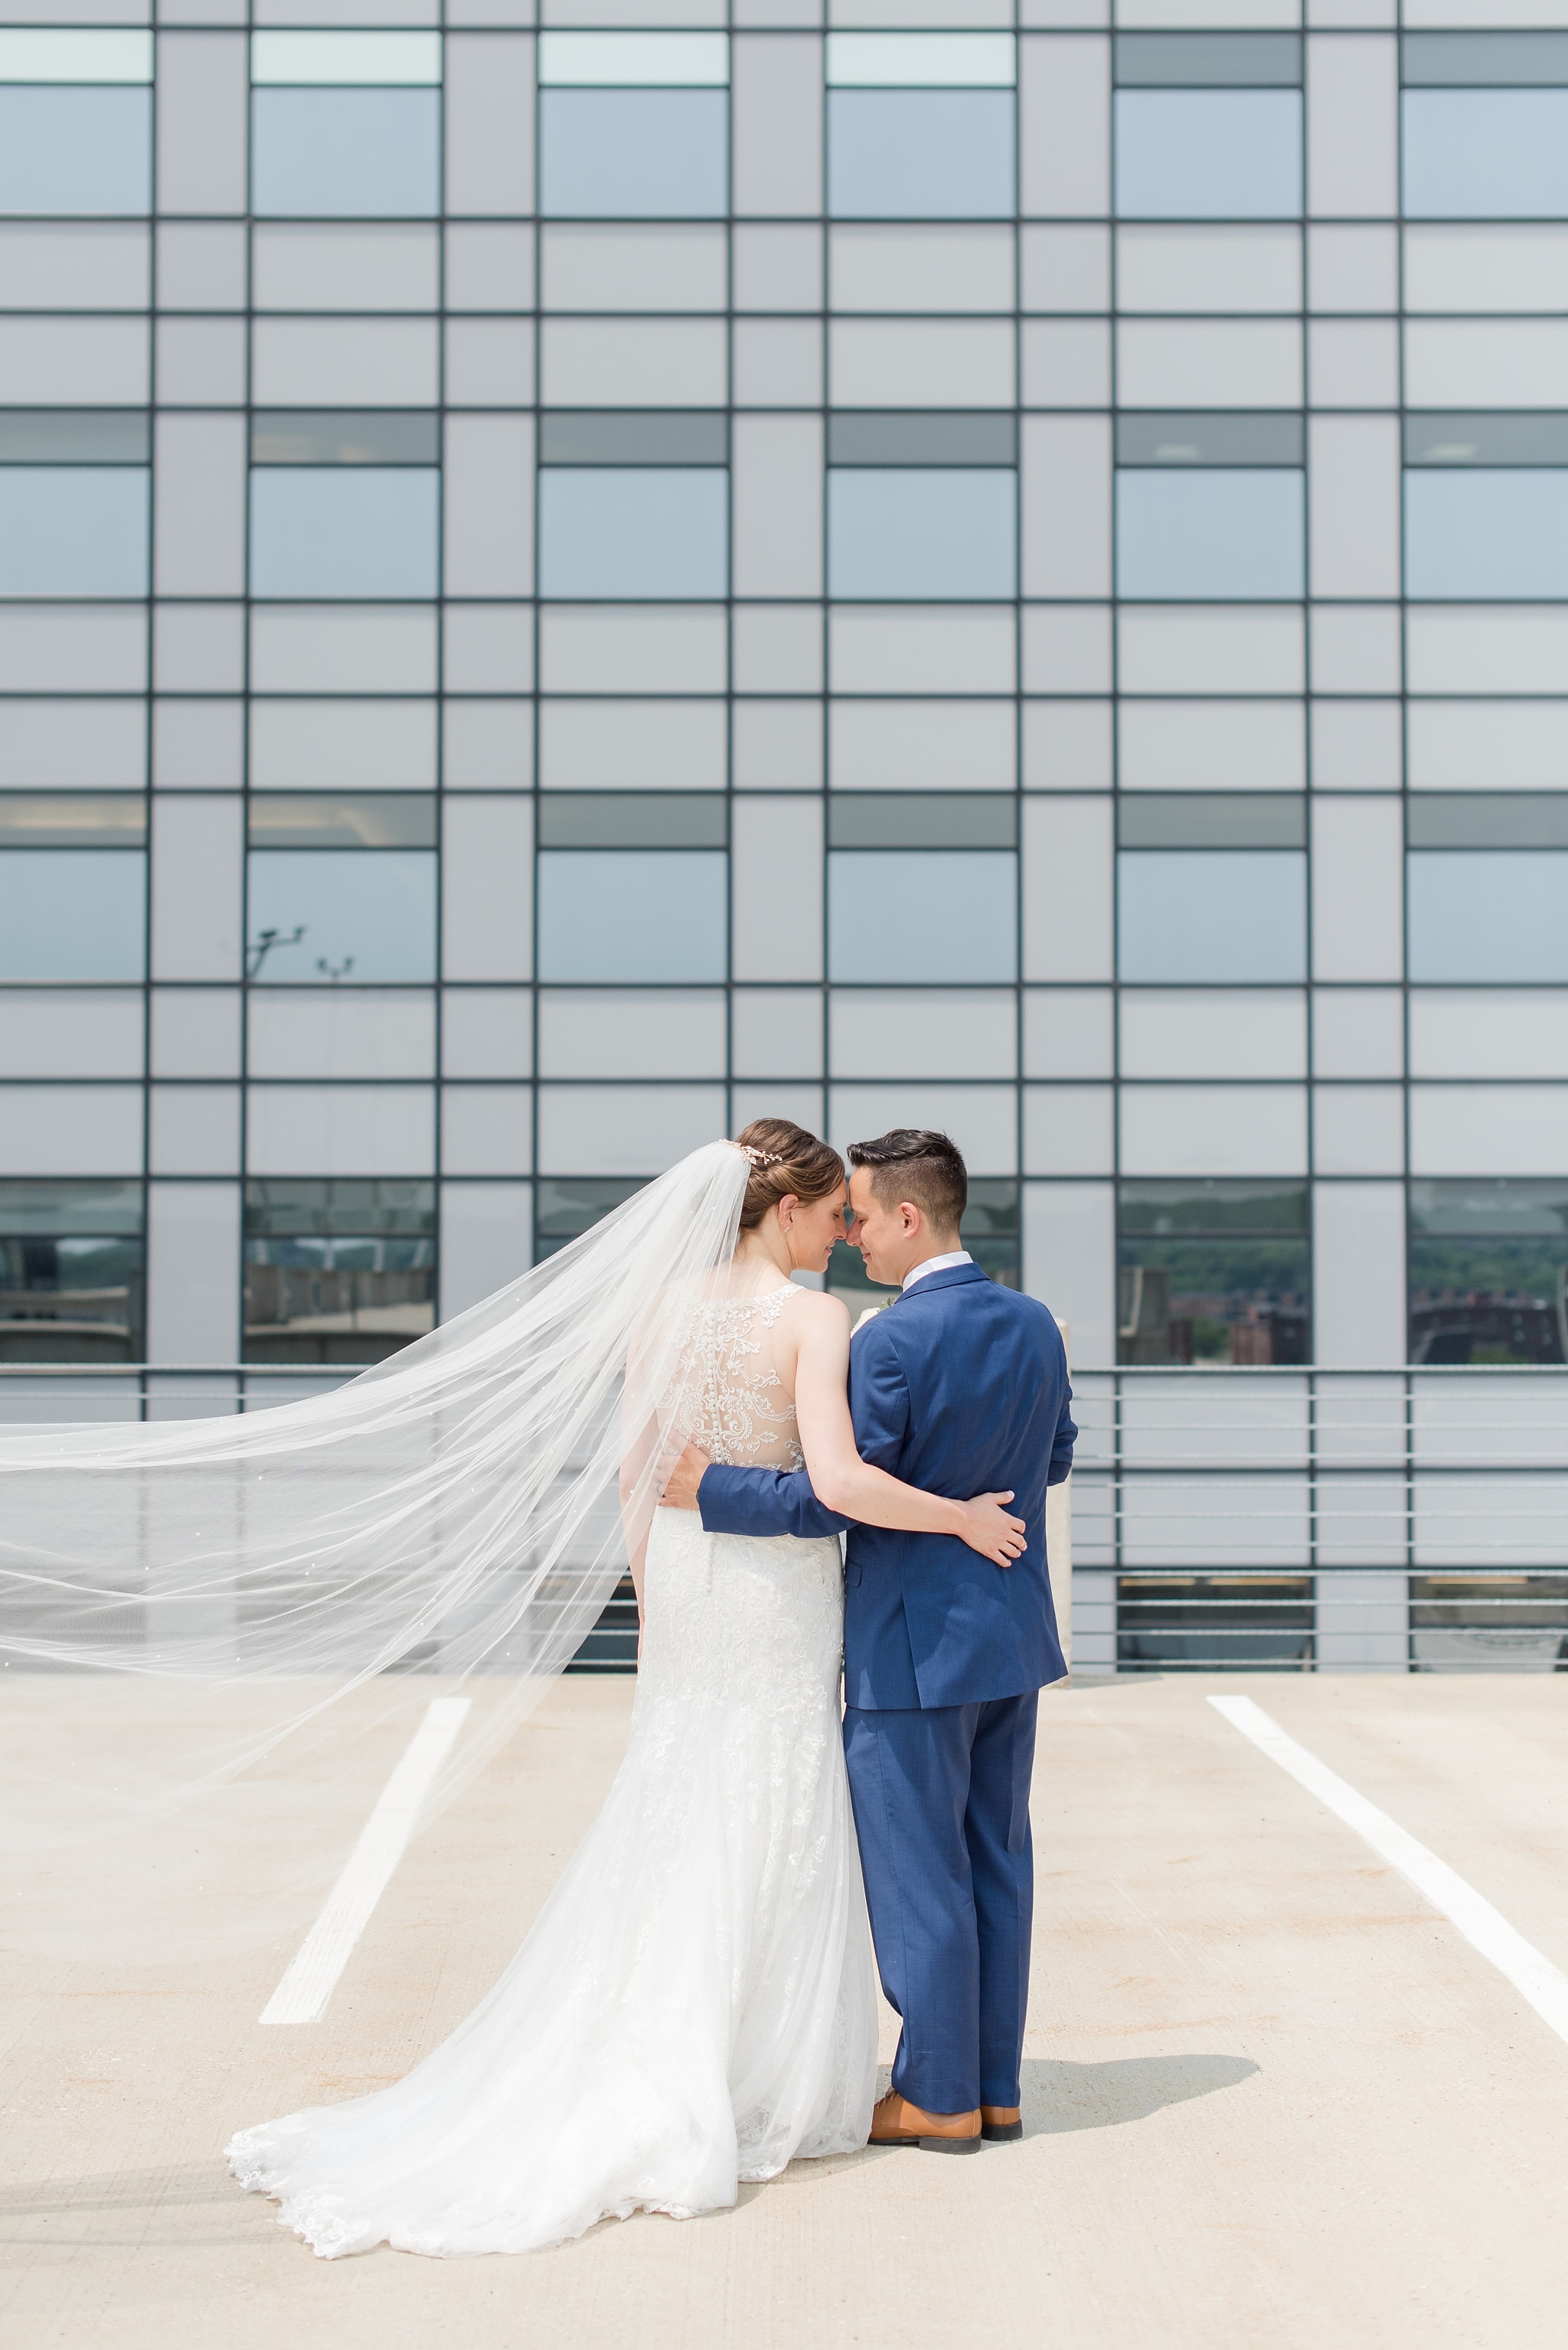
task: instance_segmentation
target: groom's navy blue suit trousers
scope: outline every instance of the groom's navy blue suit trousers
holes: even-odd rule
[[[845,1713],[845,1762],[887,2005],[892,2084],[927,2113],[1016,2106],[1040,1692]]]

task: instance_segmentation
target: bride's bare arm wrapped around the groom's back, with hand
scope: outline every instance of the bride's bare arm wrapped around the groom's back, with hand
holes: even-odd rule
[[[1023,1551],[1023,1520],[1000,1506],[1009,1492],[951,1502],[864,1462],[850,1419],[850,1316],[838,1297],[803,1292],[798,1311],[796,1419],[817,1499],[861,1525],[911,1535],[958,1535],[1000,1567]],[[864,1344],[864,1342],[861,1342]]]

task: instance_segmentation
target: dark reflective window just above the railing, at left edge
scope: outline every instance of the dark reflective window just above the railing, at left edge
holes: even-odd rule
[[[141,1361],[141,1184],[0,1182],[0,1361]]]

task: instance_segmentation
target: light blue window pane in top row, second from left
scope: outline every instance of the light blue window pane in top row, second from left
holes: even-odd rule
[[[441,209],[439,89],[256,89],[251,204],[279,219]]]

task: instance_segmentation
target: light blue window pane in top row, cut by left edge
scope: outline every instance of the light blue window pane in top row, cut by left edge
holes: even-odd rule
[[[0,212],[150,212],[148,89],[0,89]]]

